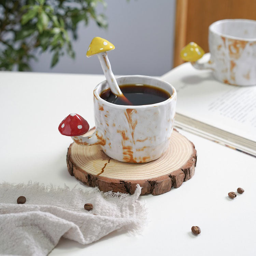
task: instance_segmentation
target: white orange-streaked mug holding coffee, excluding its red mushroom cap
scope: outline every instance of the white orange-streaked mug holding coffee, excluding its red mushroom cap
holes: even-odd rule
[[[142,163],[159,158],[169,146],[176,106],[176,90],[159,79],[128,75],[116,79],[118,85],[147,84],[162,88],[171,95],[163,102],[150,105],[116,105],[100,98],[109,88],[106,81],[94,89],[96,130],[90,136],[71,137],[83,146],[99,144],[106,155],[122,161]]]

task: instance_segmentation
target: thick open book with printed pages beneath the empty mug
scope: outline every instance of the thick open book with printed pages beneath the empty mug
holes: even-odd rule
[[[256,86],[218,82],[190,63],[161,79],[177,90],[176,127],[256,156]]]

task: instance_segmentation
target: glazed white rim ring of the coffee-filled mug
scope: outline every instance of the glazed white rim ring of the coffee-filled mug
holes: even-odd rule
[[[152,80],[155,80],[155,81],[158,81],[158,82],[161,82],[161,83],[164,83],[168,86],[170,86],[172,88],[172,95],[170,96],[170,98],[168,98],[167,100],[165,101],[161,101],[161,102],[158,102],[158,103],[154,103],[154,104],[148,104],[148,105],[118,105],[118,104],[114,104],[114,103],[111,103],[111,102],[108,102],[106,100],[103,100],[98,92],[97,92],[97,89],[102,86],[103,84],[106,84],[107,81],[104,80],[102,82],[100,82],[95,88],[94,88],[94,96],[95,98],[100,101],[102,104],[104,103],[105,105],[109,105],[109,106],[112,106],[112,107],[115,107],[115,108],[119,108],[119,109],[145,109],[145,108],[151,108],[151,107],[156,107],[156,106],[160,106],[160,105],[164,105],[164,104],[167,104],[169,102],[171,102],[172,100],[174,100],[176,98],[176,95],[177,95],[177,92],[176,92],[176,89],[173,87],[173,85],[171,85],[170,83],[166,82],[166,81],[163,81],[161,79],[157,79],[155,77],[152,77],[152,76],[148,76],[148,75],[122,75],[122,76],[117,76],[116,79],[122,79],[122,78],[147,78],[147,79],[152,79]],[[157,87],[157,86],[156,86]],[[109,86],[107,88],[110,88]]]

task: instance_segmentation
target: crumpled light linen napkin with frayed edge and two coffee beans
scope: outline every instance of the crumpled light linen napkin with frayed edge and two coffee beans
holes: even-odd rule
[[[145,203],[138,200],[140,194],[139,185],[127,195],[98,188],[1,183],[0,254],[47,255],[62,236],[89,244],[121,228],[142,231],[147,213]],[[24,204],[17,204],[19,196],[26,197]],[[85,210],[85,203],[93,204],[93,209]]]

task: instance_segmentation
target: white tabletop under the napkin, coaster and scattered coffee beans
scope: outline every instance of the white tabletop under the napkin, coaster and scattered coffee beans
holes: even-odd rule
[[[69,175],[71,139],[61,136],[58,125],[75,112],[94,126],[93,88],[102,80],[103,75],[0,72],[0,182],[71,188],[79,183],[90,189]],[[50,255],[256,255],[256,159],[180,132],[196,146],[195,175],[163,195],[141,196],[149,221],[141,235],[116,231],[86,246],[61,239]],[[244,194],[229,199],[238,187]],[[198,237],[191,226],[201,228]]]

